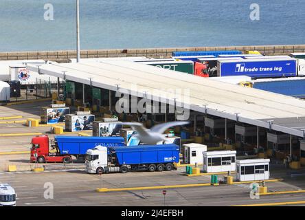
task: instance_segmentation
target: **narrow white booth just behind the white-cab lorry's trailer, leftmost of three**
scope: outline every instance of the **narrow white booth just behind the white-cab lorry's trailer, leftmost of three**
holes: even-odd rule
[[[207,151],[207,146],[203,144],[183,144],[185,164],[199,164],[203,162],[203,152]]]

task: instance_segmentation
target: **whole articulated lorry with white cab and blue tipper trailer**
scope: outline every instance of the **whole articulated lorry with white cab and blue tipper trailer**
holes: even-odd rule
[[[87,173],[102,174],[129,170],[169,171],[174,168],[174,162],[179,162],[177,144],[96,146],[87,151],[85,163]]]

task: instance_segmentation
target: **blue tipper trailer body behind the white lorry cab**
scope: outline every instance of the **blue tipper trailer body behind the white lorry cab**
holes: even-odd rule
[[[179,162],[177,144],[118,146],[109,148],[115,151],[117,162],[122,164],[163,164]]]

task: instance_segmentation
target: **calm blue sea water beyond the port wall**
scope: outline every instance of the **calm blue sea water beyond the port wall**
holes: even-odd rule
[[[260,21],[249,19],[253,2]],[[0,51],[74,50],[75,5],[1,0]],[[80,0],[81,49],[304,44],[304,11],[304,0]]]

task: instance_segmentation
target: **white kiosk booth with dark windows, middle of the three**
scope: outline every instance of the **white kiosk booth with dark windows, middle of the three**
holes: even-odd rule
[[[236,151],[203,152],[203,172],[227,172],[236,170]]]

